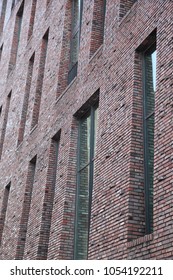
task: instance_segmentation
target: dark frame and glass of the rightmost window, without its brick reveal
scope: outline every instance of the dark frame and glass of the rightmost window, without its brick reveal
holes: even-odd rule
[[[144,184],[146,233],[153,231],[154,103],[156,44],[144,52]]]

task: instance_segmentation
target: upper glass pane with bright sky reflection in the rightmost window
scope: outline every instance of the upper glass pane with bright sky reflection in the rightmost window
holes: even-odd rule
[[[146,116],[154,112],[154,98],[156,91],[156,50],[145,55],[145,94]]]

